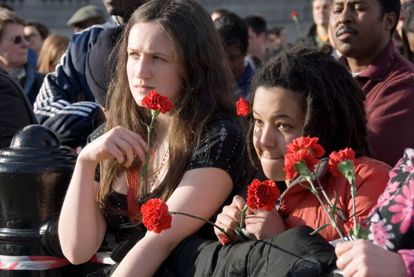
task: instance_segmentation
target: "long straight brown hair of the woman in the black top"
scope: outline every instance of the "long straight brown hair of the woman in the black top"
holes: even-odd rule
[[[126,73],[128,36],[132,27],[141,22],[157,23],[169,37],[183,84],[181,98],[170,112],[167,140],[169,164],[174,170],[168,171],[161,187],[161,199],[167,200],[183,177],[210,116],[217,112],[235,115],[235,80],[219,34],[204,8],[193,0],[150,1],[132,14],[119,42],[117,72],[108,89],[108,101],[110,107],[122,108],[110,108],[106,131],[124,126],[146,138],[146,126],[141,122],[149,123],[150,113],[133,99]],[[155,134],[151,140],[155,140]],[[133,165],[140,164],[137,159]],[[101,163],[101,207],[112,182],[124,171],[125,167],[115,159]]]

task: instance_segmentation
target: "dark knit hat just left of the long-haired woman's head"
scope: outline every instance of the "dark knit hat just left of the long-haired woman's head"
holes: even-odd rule
[[[86,57],[86,81],[95,99],[103,108],[109,107],[106,103],[106,93],[117,64],[117,56],[111,57],[110,54],[117,41],[121,39],[124,28],[125,25],[121,25],[103,30]]]

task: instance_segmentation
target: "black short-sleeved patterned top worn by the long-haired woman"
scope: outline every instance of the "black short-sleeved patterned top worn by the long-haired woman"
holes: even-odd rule
[[[91,142],[102,135],[103,128],[104,126],[99,126],[90,135],[88,141]],[[242,186],[246,175],[244,167],[244,135],[235,120],[233,120],[233,117],[224,114],[212,117],[208,124],[206,124],[201,134],[199,146],[193,153],[193,156],[188,159],[187,170],[215,167],[223,169],[230,175],[230,178],[233,180],[233,192],[225,202],[225,204],[229,204],[238,189]],[[98,166],[97,172],[95,173],[95,180],[99,182],[99,178]],[[156,197],[158,195],[155,192],[152,198]],[[126,195],[112,191],[108,197],[108,201],[112,207],[119,207],[120,211],[126,211]],[[108,227],[114,230],[119,230],[122,224],[128,222],[128,216],[105,212],[105,217],[108,222]],[[211,220],[215,220],[215,217]],[[121,229],[121,233],[124,233],[124,230],[124,228]],[[207,225],[204,225],[197,234],[203,238],[215,238],[213,227]]]

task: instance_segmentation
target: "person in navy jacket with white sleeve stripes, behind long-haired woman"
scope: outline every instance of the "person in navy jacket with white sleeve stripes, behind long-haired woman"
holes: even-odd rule
[[[90,48],[96,44],[103,30],[126,23],[132,12],[147,1],[103,1],[110,19],[72,35],[68,50],[55,72],[46,75],[34,103],[34,113],[40,124],[57,133],[62,144],[72,148],[85,144],[99,121],[95,120],[100,115],[99,105],[85,76],[86,56]]]

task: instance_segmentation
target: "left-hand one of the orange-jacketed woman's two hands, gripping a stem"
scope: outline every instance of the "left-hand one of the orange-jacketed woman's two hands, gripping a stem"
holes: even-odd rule
[[[217,216],[217,220],[215,222],[216,225],[223,228],[226,233],[230,236],[231,240],[237,241],[239,237],[235,234],[236,227],[239,227],[240,220],[242,219],[242,214],[240,213],[244,206],[246,206],[246,201],[242,198],[242,196],[236,195],[233,198],[233,202],[224,207],[223,211],[219,213]],[[246,211],[246,214],[251,214],[252,211],[249,209]],[[219,240],[221,238],[225,238],[226,235],[215,228],[215,234]]]

